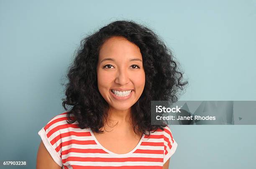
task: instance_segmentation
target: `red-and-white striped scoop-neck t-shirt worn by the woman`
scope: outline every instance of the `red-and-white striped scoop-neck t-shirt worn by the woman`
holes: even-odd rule
[[[72,116],[72,115],[71,115]],[[168,126],[150,136],[143,134],[126,154],[115,154],[95,138],[92,130],[67,123],[67,112],[52,118],[38,134],[54,161],[62,169],[162,169],[177,143]]]

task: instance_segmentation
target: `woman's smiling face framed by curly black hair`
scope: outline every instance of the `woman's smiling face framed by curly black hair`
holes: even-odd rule
[[[106,40],[99,52],[97,82],[100,94],[110,109],[130,109],[145,86],[139,47],[123,37]]]

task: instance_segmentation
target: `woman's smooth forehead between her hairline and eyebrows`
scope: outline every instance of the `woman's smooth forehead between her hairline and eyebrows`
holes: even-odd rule
[[[100,48],[99,59],[105,57],[138,57],[142,59],[140,48],[124,37],[110,37],[103,43]]]

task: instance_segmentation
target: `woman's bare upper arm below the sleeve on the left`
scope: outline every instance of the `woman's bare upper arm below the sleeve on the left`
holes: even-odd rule
[[[56,162],[52,159],[51,155],[44,146],[44,143],[41,141],[36,159],[36,169],[61,169]]]

